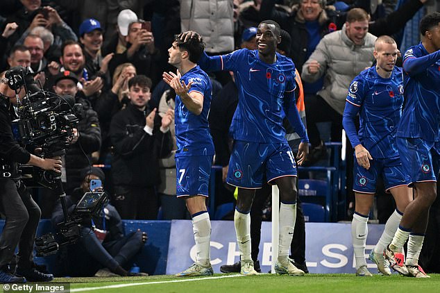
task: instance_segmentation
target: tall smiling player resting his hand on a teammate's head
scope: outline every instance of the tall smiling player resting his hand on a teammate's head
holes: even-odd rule
[[[197,35],[187,32],[185,37]],[[239,102],[230,133],[234,146],[230,156],[227,182],[239,187],[234,215],[237,243],[241,256],[241,274],[257,274],[251,258],[250,223],[255,190],[262,187],[263,174],[269,184],[280,190],[280,244],[276,271],[302,275],[289,262],[289,248],[296,218],[296,162],[285,138],[283,117],[287,117],[301,136],[298,164],[308,153],[308,137],[295,106],[295,65],[276,53],[281,41],[280,26],[261,22],[257,28],[257,50],[240,49],[223,56],[204,54],[198,64],[208,71],[234,72]],[[274,248],[276,249],[276,248]]]

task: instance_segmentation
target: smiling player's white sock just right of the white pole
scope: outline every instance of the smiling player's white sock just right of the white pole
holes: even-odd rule
[[[286,264],[289,261],[289,249],[291,240],[294,237],[294,228],[296,220],[296,203],[285,204],[280,206],[280,235],[278,244],[278,261]]]

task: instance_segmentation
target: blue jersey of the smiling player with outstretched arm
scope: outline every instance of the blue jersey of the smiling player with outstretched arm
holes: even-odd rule
[[[282,106],[295,105],[295,101],[284,101],[285,92],[293,92],[296,87],[295,65],[278,53],[276,58],[276,62],[267,64],[260,60],[257,50],[240,49],[214,57],[209,65],[201,63],[208,71],[229,70],[235,74],[239,102],[230,127],[235,140],[287,142]]]

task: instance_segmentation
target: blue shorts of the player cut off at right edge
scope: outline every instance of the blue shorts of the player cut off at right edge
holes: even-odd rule
[[[440,163],[440,142],[421,138],[396,137],[400,161],[407,173],[408,186],[416,182],[437,181]]]

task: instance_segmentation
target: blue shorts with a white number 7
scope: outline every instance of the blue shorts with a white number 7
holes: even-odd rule
[[[213,156],[176,157],[177,197],[208,196]]]

